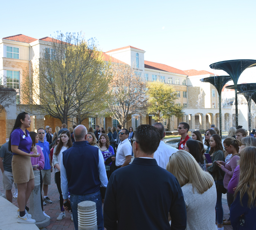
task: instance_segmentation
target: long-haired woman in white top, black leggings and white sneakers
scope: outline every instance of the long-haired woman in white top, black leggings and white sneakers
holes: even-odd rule
[[[61,191],[61,180],[60,180],[60,164],[62,158],[62,153],[70,148],[72,146],[71,136],[70,132],[65,130],[61,132],[60,134],[60,142],[58,145],[54,148],[53,151],[53,158],[52,158],[52,164],[55,166],[55,183],[57,184],[57,188],[60,194],[60,210],[61,213],[57,217],[57,220],[62,220],[64,217],[66,217],[65,211],[62,212],[63,207],[63,196]],[[71,220],[73,220],[73,216],[71,213]]]

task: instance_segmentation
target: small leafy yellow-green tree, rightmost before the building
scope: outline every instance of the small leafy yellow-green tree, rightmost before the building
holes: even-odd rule
[[[153,114],[153,119],[156,122],[161,122],[163,119],[168,119],[170,116],[182,116],[182,106],[175,102],[177,92],[173,86],[169,86],[163,82],[155,81],[148,82],[148,114]]]

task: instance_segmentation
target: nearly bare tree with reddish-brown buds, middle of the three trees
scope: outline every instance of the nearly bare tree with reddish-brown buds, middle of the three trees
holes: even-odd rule
[[[109,115],[123,127],[131,120],[132,114],[142,114],[147,106],[146,85],[139,73],[131,66],[112,65],[112,79],[109,83],[111,99],[108,103]]]

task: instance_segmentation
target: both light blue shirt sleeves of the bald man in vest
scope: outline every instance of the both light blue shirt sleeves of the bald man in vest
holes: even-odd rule
[[[67,172],[63,165],[63,158],[61,157],[61,160],[59,162],[60,164],[60,181],[61,181],[61,191],[63,195],[63,199],[68,199],[68,178],[67,178]],[[99,150],[99,165],[98,165],[98,171],[99,171],[99,177],[100,177],[100,183],[101,187],[107,187],[108,185],[108,177],[106,174],[105,164],[104,164],[104,158]]]

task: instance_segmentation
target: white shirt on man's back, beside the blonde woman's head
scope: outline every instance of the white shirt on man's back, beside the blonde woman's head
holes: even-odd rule
[[[157,151],[154,153],[154,159],[156,159],[157,164],[161,168],[166,169],[166,165],[169,162],[170,156],[177,151],[177,148],[165,144],[164,141],[160,141],[159,147],[157,148]]]

